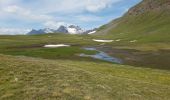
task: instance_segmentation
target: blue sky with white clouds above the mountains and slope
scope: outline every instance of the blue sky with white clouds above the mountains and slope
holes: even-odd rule
[[[141,0],[0,0],[0,34],[78,25],[93,29],[121,17]]]

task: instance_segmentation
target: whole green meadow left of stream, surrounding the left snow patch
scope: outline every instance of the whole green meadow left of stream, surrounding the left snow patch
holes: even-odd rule
[[[47,44],[68,44],[71,47],[44,48]],[[84,50],[83,47],[97,45],[90,36],[45,34],[30,36],[1,36],[0,53],[39,57],[45,59],[88,60],[79,54],[95,54],[97,51]]]

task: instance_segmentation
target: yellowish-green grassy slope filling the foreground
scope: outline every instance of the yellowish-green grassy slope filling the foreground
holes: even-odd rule
[[[0,55],[1,100],[168,100],[169,71]]]

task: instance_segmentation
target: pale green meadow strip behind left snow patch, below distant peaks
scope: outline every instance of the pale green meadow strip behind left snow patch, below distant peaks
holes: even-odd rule
[[[90,36],[86,35],[67,35],[67,34],[44,34],[44,35],[16,35],[0,36],[0,47],[26,46],[26,45],[44,45],[54,43],[68,43],[76,45],[94,44]]]

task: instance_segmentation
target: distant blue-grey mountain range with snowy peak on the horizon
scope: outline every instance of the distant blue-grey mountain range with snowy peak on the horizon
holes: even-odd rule
[[[65,34],[83,34],[85,31],[80,28],[79,26],[70,25],[68,27],[61,25],[58,29],[50,29],[50,28],[44,28],[35,30],[32,29],[29,33],[29,35],[33,34],[47,34],[47,33],[65,33]]]

